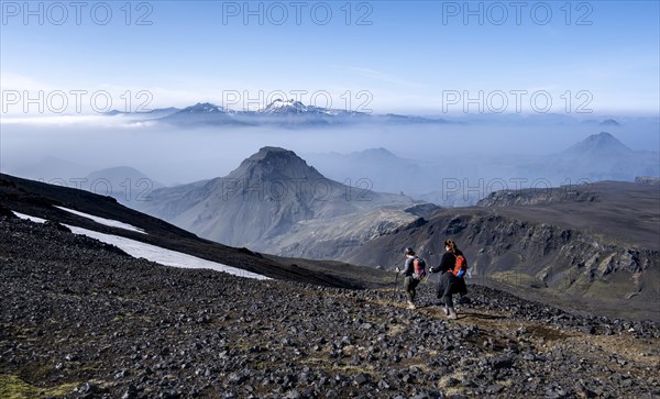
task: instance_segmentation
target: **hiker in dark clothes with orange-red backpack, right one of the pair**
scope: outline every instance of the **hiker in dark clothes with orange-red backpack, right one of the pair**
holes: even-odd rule
[[[459,250],[457,243],[451,239],[444,241],[444,250],[446,253],[442,255],[440,265],[431,267],[429,271],[441,274],[440,281],[436,288],[436,295],[438,299],[442,298],[444,301],[444,314],[447,314],[449,319],[458,319],[457,312],[453,308],[452,295],[459,293],[462,297],[468,293],[468,287],[465,286],[465,280],[462,277],[463,275],[455,269],[455,266],[458,257],[462,256],[462,262],[464,262],[465,256],[461,250]],[[461,275],[461,277],[457,277],[457,275]]]

